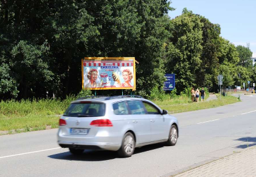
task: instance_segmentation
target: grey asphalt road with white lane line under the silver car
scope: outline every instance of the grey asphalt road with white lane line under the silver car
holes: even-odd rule
[[[86,151],[75,157],[57,144],[57,129],[0,136],[0,176],[170,176],[256,145],[256,95],[214,109],[175,114],[174,147],[136,149],[131,158]],[[196,103],[195,103],[196,106]]]

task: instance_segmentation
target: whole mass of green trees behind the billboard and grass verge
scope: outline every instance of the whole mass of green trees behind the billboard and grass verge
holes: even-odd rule
[[[218,74],[224,86],[256,81],[249,48],[235,47],[221,38],[220,25],[186,8],[171,19],[170,5],[167,0],[0,0],[0,99],[79,93],[85,56],[134,56],[136,94],[147,97],[162,89],[165,73],[176,74],[178,93],[188,87],[215,90]]]

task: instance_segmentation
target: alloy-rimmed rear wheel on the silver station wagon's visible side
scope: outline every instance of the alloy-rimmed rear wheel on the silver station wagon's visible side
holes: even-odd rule
[[[118,150],[118,154],[122,158],[128,158],[133,155],[135,149],[135,140],[133,133],[125,133],[123,136],[122,146]]]

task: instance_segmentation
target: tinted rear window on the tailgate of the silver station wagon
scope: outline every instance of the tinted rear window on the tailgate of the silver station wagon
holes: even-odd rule
[[[101,102],[72,103],[63,116],[98,117],[105,115],[105,104]]]

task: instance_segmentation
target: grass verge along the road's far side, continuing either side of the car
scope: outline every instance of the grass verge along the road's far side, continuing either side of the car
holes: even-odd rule
[[[58,127],[58,119],[74,98],[64,101],[7,101],[0,102],[0,135],[30,132],[34,130],[54,129]],[[209,109],[221,105],[238,102],[234,96],[222,96],[213,101],[191,102],[186,96],[176,96],[164,101],[153,101],[168,113],[189,112]]]

